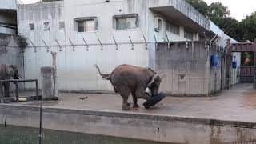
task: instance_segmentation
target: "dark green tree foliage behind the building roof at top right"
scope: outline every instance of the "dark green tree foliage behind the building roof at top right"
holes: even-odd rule
[[[203,0],[186,0],[198,12],[209,18],[226,34],[240,42],[253,41],[256,38],[256,12],[242,22],[230,17],[230,10],[222,2],[213,2],[209,6]]]

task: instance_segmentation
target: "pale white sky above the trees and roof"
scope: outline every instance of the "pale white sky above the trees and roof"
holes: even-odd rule
[[[38,0],[21,0],[23,3],[34,3]],[[256,11],[256,0],[204,0],[208,4],[211,2],[222,2],[224,6],[227,6],[230,10],[231,17],[241,21],[246,18],[246,15],[250,15]]]

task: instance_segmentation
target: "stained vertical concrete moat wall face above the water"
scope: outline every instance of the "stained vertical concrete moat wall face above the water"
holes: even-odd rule
[[[39,126],[37,106],[0,106],[0,124]],[[254,123],[44,108],[42,128],[170,143],[222,144],[256,138]]]

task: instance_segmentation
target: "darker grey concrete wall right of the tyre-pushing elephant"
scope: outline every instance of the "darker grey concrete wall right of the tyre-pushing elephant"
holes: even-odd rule
[[[170,48],[167,43],[159,43],[155,50],[155,69],[166,74],[161,83],[161,90],[171,95],[200,96],[214,94],[222,89],[225,82],[225,63],[218,67],[210,66],[210,56],[225,55],[210,47],[207,50],[204,42],[173,42]],[[153,58],[153,57],[151,57]],[[225,61],[223,61],[225,62]],[[223,72],[222,72],[223,70]],[[222,75],[223,73],[223,75]],[[182,79],[184,75],[184,79]]]

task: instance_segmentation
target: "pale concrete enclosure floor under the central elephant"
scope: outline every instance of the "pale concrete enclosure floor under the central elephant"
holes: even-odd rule
[[[131,96],[130,102],[132,102]],[[213,97],[166,97],[149,110],[144,109],[143,102],[145,100],[138,99],[140,109],[124,113],[163,114],[188,118],[256,122],[256,90],[252,89],[252,84],[238,84],[230,90],[222,90],[221,93]],[[41,104],[42,106],[76,110],[122,111],[122,98],[118,94],[60,93],[59,100],[55,102],[18,103],[18,105],[30,106]]]

